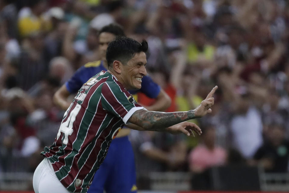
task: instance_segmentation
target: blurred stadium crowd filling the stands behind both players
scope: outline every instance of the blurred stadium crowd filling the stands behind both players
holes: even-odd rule
[[[201,136],[131,132],[139,190],[289,190],[287,0],[0,0],[0,190],[33,190],[64,114],[52,96],[99,60],[98,31],[110,23],[148,41],[166,112],[194,109],[219,87],[212,114],[194,120]]]

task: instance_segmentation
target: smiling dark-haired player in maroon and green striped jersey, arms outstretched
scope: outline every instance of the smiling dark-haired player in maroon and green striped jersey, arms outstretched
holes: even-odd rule
[[[87,81],[64,114],[57,137],[41,154],[33,188],[36,193],[87,192],[110,142],[124,125],[172,134],[201,134],[189,119],[212,112],[215,86],[196,109],[187,112],[148,111],[127,91],[140,89],[146,75],[148,43],[120,37],[109,43],[107,71]]]

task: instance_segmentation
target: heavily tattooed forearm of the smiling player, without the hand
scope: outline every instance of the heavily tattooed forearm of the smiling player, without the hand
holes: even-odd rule
[[[197,118],[194,110],[187,112],[154,112],[142,109],[136,111],[129,119],[129,122],[145,130],[163,131],[164,128],[194,118]]]

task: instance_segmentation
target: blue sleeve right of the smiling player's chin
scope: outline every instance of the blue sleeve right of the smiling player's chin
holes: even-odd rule
[[[142,92],[144,93],[146,96],[150,97],[150,98],[157,98],[157,96],[160,93],[160,86],[155,83],[151,77],[149,76],[144,76],[141,79],[141,89],[140,90],[130,90],[129,93],[131,94],[135,94],[137,92]]]

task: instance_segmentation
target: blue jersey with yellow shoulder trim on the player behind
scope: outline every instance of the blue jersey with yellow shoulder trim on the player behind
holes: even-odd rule
[[[107,69],[103,65],[103,61],[89,62],[80,67],[73,76],[65,83],[67,90],[70,93],[76,93],[89,78],[96,75],[98,72]],[[156,98],[160,93],[160,86],[151,79],[149,76],[144,76],[141,80],[140,90],[129,90],[129,93],[136,94],[142,92],[150,98]]]

